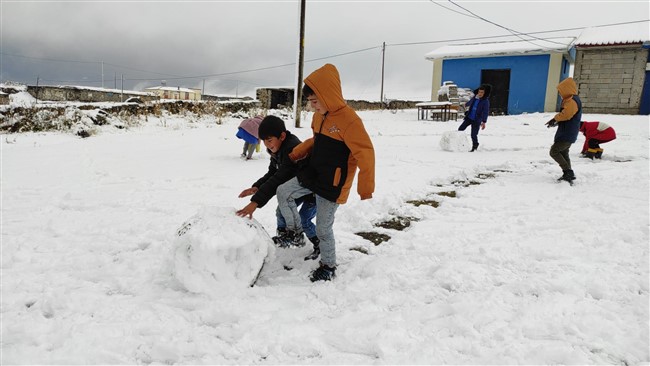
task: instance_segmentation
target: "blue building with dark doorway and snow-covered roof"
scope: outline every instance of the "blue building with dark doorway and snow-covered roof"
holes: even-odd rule
[[[431,100],[443,81],[475,89],[491,84],[492,114],[553,112],[557,84],[569,76],[574,38],[447,45],[425,55],[433,62]]]

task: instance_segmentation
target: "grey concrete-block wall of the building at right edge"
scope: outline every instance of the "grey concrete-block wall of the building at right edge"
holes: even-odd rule
[[[583,112],[638,114],[648,50],[636,45],[576,51],[574,78]]]

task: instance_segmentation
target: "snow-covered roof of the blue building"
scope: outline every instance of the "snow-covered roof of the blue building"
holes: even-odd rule
[[[486,56],[539,55],[554,52],[568,53],[573,37],[548,38],[530,41],[507,41],[493,43],[452,44],[439,47],[426,55],[427,60],[448,58],[472,58]]]

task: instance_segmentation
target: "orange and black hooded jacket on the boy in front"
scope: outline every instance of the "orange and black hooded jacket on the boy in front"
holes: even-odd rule
[[[375,191],[375,150],[361,118],[347,105],[341,79],[334,65],[326,64],[305,79],[327,113],[314,113],[314,136],[293,149],[296,161],[309,157],[298,173],[300,183],[319,196],[338,204],[347,202],[357,168],[357,192],[361,199]]]

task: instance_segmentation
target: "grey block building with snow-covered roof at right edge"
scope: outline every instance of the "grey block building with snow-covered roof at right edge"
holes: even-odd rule
[[[650,114],[648,23],[585,29],[574,78],[587,113]]]

